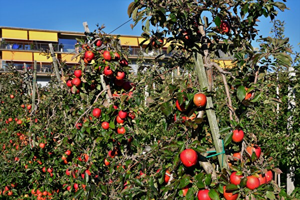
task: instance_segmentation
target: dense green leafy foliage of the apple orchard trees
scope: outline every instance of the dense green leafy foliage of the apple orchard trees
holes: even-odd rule
[[[280,188],[273,180],[254,190],[246,186],[249,175],[258,177],[269,170],[280,173],[275,167],[280,162],[273,157],[284,155],[272,152],[272,145],[286,139],[280,132],[275,136],[273,133],[278,127],[286,131],[286,123],[278,124],[286,120],[288,111],[282,106],[278,114],[275,107],[277,102],[285,104],[289,82],[286,72],[278,73],[276,82],[274,73],[266,69],[290,65],[288,40],[263,38],[256,54],[249,42],[256,35],[253,28],[256,19],[261,15],[272,19],[277,12],[274,7],[283,10],[285,5],[272,0],[227,3],[135,0],[128,13],[135,22],[145,23],[142,35],[150,40],[145,50],[157,47],[160,43],[156,40],[171,34],[167,41],[171,43],[168,51],[174,52],[172,56],[161,63],[162,55],[157,55],[149,65],[143,65],[141,59],[138,74],[133,76],[127,51],[118,36],[107,35],[102,27],[92,32],[85,29],[86,39],[79,40],[77,46],[82,49],[76,55],[80,58],[80,68],[62,67],[63,85],[53,79],[47,87],[38,87],[36,107],[30,109],[26,106],[32,103],[27,89],[30,74],[26,79],[26,74],[13,68],[10,73],[1,74],[1,197],[194,199],[198,190],[209,189],[211,199],[222,199],[226,185],[226,191],[238,193],[239,198],[280,198]],[[213,18],[210,22],[209,17],[202,16],[205,11]],[[232,32],[219,33],[213,23],[219,26],[221,20],[229,22]],[[150,31],[150,24],[162,30]],[[189,31],[190,39],[182,30]],[[219,40],[224,42],[218,43]],[[207,52],[217,54],[218,49],[235,57],[235,67],[225,72],[208,61]],[[110,58],[104,56],[105,51]],[[192,53],[195,52],[204,58],[206,70],[209,66],[217,69],[211,73],[211,88],[199,84],[199,73],[194,70]],[[253,59],[256,61],[251,63]],[[105,75],[106,66],[112,74]],[[181,77],[171,76],[177,67],[183,71]],[[74,73],[78,69],[80,76]],[[118,72],[124,72],[125,79],[117,78]],[[75,76],[79,76],[80,83],[68,84]],[[7,85],[7,79],[11,84]],[[229,94],[224,92],[229,89],[227,83]],[[280,85],[281,96],[275,93],[276,84]],[[298,96],[297,84],[294,89]],[[193,103],[198,92],[213,99],[223,141],[223,151],[219,154],[226,156],[226,163],[221,165],[207,114],[210,108],[196,107]],[[248,93],[252,95],[245,99]],[[94,108],[100,108],[99,117],[93,114]],[[128,114],[123,122],[117,119],[120,110]],[[10,121],[10,117],[17,120]],[[108,129],[102,122],[108,122]],[[293,125],[298,127],[296,120]],[[120,128],[125,132],[120,132]],[[233,142],[232,130],[239,128],[245,132],[243,141]],[[297,134],[293,136],[297,138]],[[278,140],[270,139],[274,137]],[[246,151],[252,143],[261,146],[261,156]],[[194,166],[184,166],[179,158],[186,148],[197,152],[198,162]],[[240,152],[241,157],[235,159],[234,152]],[[243,175],[240,184],[230,182],[233,171]],[[184,188],[188,188],[186,194]],[[46,191],[45,195],[39,191]]]

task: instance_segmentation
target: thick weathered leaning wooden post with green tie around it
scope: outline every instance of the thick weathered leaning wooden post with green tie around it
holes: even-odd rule
[[[208,88],[209,85],[208,85],[208,81],[207,81],[205,67],[203,64],[202,55],[198,52],[197,49],[193,49],[193,57],[195,60],[195,71],[198,76],[198,81],[199,81],[200,87],[201,87],[201,89]],[[207,118],[208,118],[208,122],[209,122],[211,135],[212,135],[216,153],[220,153],[217,155],[220,168],[221,169],[227,168],[226,155],[224,153],[221,153],[223,151],[224,146],[223,146],[222,139],[220,139],[217,119],[216,119],[215,111],[213,108],[212,98],[210,96],[207,96],[207,103],[206,103],[205,110],[206,110],[206,114],[207,114]]]

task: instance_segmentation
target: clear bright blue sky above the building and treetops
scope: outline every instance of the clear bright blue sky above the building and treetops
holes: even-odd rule
[[[0,26],[67,30],[83,32],[82,22],[91,30],[96,23],[104,24],[109,33],[129,18],[127,6],[133,0],[0,0]],[[300,0],[287,0],[289,10],[279,11],[276,19],[285,22],[285,36],[293,50],[300,51]],[[268,36],[272,23],[260,18],[259,35]],[[141,27],[130,28],[132,21],[122,25],[113,34],[140,35]],[[254,44],[255,46],[255,44]]]

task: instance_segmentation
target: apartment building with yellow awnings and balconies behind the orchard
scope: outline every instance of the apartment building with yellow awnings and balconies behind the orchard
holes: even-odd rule
[[[31,70],[33,61],[36,60],[37,82],[45,85],[50,80],[50,75],[53,75],[52,58],[40,54],[40,50],[49,50],[48,44],[52,43],[56,57],[64,60],[67,66],[74,67],[79,65],[78,58],[77,60],[71,59],[78,51],[75,48],[76,38],[85,38],[84,32],[0,26],[0,72],[7,70],[8,63],[12,63],[17,70],[24,70],[24,67]],[[130,66],[135,72],[139,53],[143,53],[145,60],[153,59],[157,54],[166,53],[168,46],[168,43],[165,43],[162,48],[145,53],[139,45],[144,40],[143,37],[121,35],[119,39],[121,45],[129,50]],[[147,42],[143,45],[146,44]],[[170,55],[171,53],[168,53],[161,58],[167,58]],[[222,62],[227,65],[231,63],[231,60],[228,56],[222,58]]]

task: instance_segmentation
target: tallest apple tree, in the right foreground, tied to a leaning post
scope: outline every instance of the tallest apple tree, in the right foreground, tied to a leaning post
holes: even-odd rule
[[[253,175],[258,178],[259,173],[264,176],[267,171],[272,170],[280,173],[280,170],[273,167],[271,158],[267,156],[267,149],[264,149],[263,158],[260,157],[261,148],[257,145],[254,134],[246,135],[247,139],[236,140],[232,130],[243,129],[245,123],[243,120],[247,120],[246,116],[251,114],[247,111],[249,107],[259,106],[263,99],[271,98],[268,95],[270,89],[265,84],[267,78],[265,72],[275,64],[285,67],[291,64],[291,57],[288,54],[291,50],[284,45],[288,41],[287,39],[260,38],[263,42],[261,51],[258,53],[254,51],[251,45],[251,41],[258,36],[258,30],[255,26],[257,26],[259,17],[269,17],[273,20],[277,14],[276,9],[283,11],[285,8],[284,3],[273,0],[258,2],[251,0],[204,2],[197,0],[135,0],[128,6],[128,15],[134,21],[132,27],[139,21],[142,22],[143,33],[141,35],[145,38],[144,41],[149,41],[145,46],[146,52],[163,46],[164,43],[161,43],[160,39],[164,37],[167,38],[166,42],[168,43],[167,53],[178,50],[184,51],[173,54],[171,57],[173,65],[167,65],[169,68],[166,67],[166,71],[175,65],[184,66],[185,60],[193,62],[194,69],[191,70],[190,74],[196,76],[185,78],[182,83],[177,85],[169,84],[164,90],[164,95],[155,101],[156,108],[161,109],[168,121],[171,121],[175,114],[175,123],[180,114],[185,115],[182,117],[189,117],[188,121],[190,119],[191,125],[187,124],[186,126],[185,124],[183,126],[185,129],[182,131],[182,134],[185,134],[182,137],[185,136],[186,148],[198,148],[198,153],[203,154],[199,145],[201,141],[207,138],[202,137],[201,132],[206,130],[206,135],[211,136],[206,142],[210,141],[210,145],[213,142],[212,147],[218,158],[218,162],[214,164],[218,164],[222,173],[216,177],[214,173],[209,171],[211,166],[207,169],[203,164],[202,167],[206,174],[213,174],[214,179],[223,178],[221,179],[223,182],[218,179],[219,184],[209,182],[207,185],[196,185],[196,187],[188,190],[190,191],[188,192],[189,197],[196,193],[196,188],[210,188],[209,196],[217,198],[217,194],[224,192],[223,185],[226,185],[226,192],[227,190],[233,191],[233,194],[239,193],[239,196],[245,198],[254,196],[257,198],[275,198],[274,194],[279,191],[275,185],[275,187],[269,187],[269,185],[259,186],[259,184],[257,190],[250,191],[254,188],[248,187],[247,183],[250,184],[252,181],[247,181],[247,177]],[[230,70],[221,68],[216,61],[211,60],[211,58],[224,55],[233,57],[233,68]],[[162,65],[158,65],[158,67],[162,67]],[[223,82],[221,90],[225,92],[226,96],[223,98],[222,106],[226,106],[227,110],[222,108],[222,111],[227,112],[223,115],[227,116],[226,120],[221,116],[216,117],[213,108],[212,97],[219,95],[214,93],[213,80],[215,79],[220,79]],[[196,82],[196,84],[189,84],[189,80]],[[192,104],[194,94],[199,92],[205,93],[207,96],[205,109],[203,107],[199,109]],[[193,113],[197,115],[194,117],[196,120],[191,118]],[[219,121],[217,118],[220,118]],[[203,119],[208,121],[209,126],[202,123]],[[196,125],[192,125],[193,122],[196,122]],[[199,124],[202,127],[199,127]],[[221,124],[220,130],[219,124]],[[190,132],[186,131],[187,127],[191,129]],[[230,142],[231,140],[232,142]],[[224,150],[224,146],[227,151]],[[254,151],[257,150],[256,154],[252,154],[251,148]],[[180,153],[180,149],[178,150]],[[204,150],[205,152],[207,153]],[[229,153],[228,159],[234,161],[236,160],[235,157],[232,158],[234,152],[239,152],[241,155],[239,162],[230,166],[230,162],[228,163],[226,160],[228,156],[224,156],[224,153]],[[228,163],[228,165],[224,163]],[[177,163],[174,164],[176,166]],[[240,184],[237,184],[238,186],[228,184],[230,181],[226,181],[225,177],[228,178],[233,171],[243,175]],[[193,175],[196,176],[197,172],[194,171],[192,174],[187,172],[187,174],[190,178]],[[180,175],[178,178],[180,179]],[[186,185],[187,183],[181,184],[179,188]],[[226,196],[225,193],[223,193],[224,197]]]

